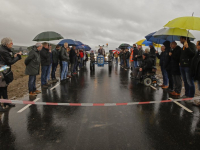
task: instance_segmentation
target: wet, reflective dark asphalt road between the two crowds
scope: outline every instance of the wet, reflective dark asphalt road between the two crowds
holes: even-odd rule
[[[89,64],[89,63],[88,63]],[[130,71],[114,65],[89,66],[38,102],[123,103],[160,101],[162,89],[132,82]],[[23,100],[28,100],[28,97]],[[17,105],[2,114],[0,150],[199,150],[200,109],[181,102],[118,107]]]

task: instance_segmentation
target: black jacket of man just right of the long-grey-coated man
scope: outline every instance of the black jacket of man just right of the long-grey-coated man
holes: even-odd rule
[[[41,66],[49,66],[51,64],[49,49],[42,48],[40,52]]]

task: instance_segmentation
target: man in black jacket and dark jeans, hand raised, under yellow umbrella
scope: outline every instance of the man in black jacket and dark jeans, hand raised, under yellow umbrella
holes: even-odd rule
[[[190,73],[190,65],[196,54],[196,46],[186,37],[180,37],[180,42],[183,44],[180,56],[180,70],[185,86],[185,95],[182,98],[192,98],[195,94],[195,85]]]

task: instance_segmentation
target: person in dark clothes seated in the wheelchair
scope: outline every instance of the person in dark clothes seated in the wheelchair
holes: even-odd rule
[[[143,58],[143,61],[142,61],[141,66],[139,66],[138,68],[134,69],[133,78],[136,78],[138,80],[141,78],[141,76],[143,74],[146,74],[148,71],[151,71],[152,70],[152,66],[154,65],[152,59],[149,57],[149,54],[144,53],[142,55],[142,58]]]

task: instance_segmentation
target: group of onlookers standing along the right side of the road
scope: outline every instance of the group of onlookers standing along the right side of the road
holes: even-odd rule
[[[182,82],[184,83],[185,94],[181,98],[193,98],[195,96],[195,81],[198,81],[200,90],[200,41],[192,43],[187,37],[180,37],[183,44],[181,48],[176,42],[165,41],[161,47],[161,53],[155,50],[153,44],[149,48],[142,49],[142,45],[133,44],[128,49],[121,50],[119,55],[115,54],[116,63],[120,58],[122,68],[132,68],[132,79],[139,80],[141,76],[156,65],[156,57],[160,60],[160,67],[163,76],[163,89],[168,90],[172,96],[180,97]],[[129,66],[131,63],[131,67]],[[193,104],[200,106],[199,100]]]

